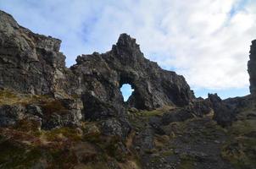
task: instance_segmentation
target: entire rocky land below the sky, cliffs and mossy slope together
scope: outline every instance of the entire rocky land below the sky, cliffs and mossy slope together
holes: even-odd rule
[[[226,100],[196,98],[130,35],[70,68],[60,44],[0,11],[0,168],[255,168],[256,41],[251,95]]]

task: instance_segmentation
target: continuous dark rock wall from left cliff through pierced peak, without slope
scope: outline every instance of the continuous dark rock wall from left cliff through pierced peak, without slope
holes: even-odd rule
[[[125,103],[120,92],[124,84],[130,84],[134,89],[127,105],[138,109],[186,106],[194,98],[182,76],[163,70],[157,63],[147,60],[130,35],[120,35],[111,51],[82,55],[77,57],[74,66],[66,68],[65,57],[59,52],[60,40],[32,33],[3,11],[0,16],[2,89],[36,95],[50,94],[55,98],[82,95],[86,114],[92,119],[97,115],[91,115],[92,109],[95,109],[90,107],[92,105],[87,99],[92,98],[91,94],[92,100],[103,102],[99,105],[108,104],[115,109],[108,109],[108,112],[97,110],[97,114],[118,115],[124,112]]]

